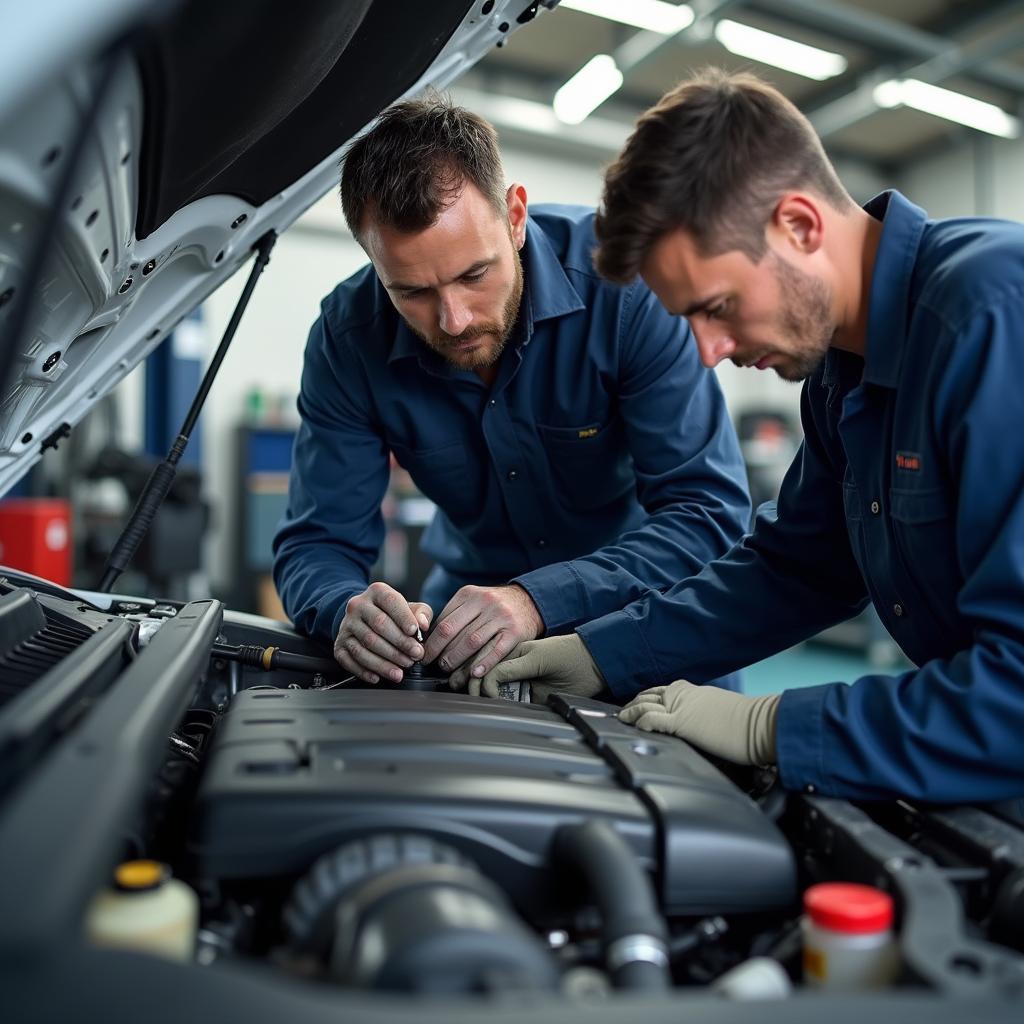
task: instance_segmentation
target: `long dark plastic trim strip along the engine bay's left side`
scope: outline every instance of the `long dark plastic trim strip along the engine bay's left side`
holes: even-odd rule
[[[123,835],[206,672],[219,601],[168,620],[0,816],[0,959],[67,943],[103,884]]]

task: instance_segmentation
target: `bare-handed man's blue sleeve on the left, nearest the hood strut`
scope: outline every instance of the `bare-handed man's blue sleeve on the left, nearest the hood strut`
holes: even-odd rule
[[[384,538],[388,452],[360,372],[355,359],[342,357],[322,314],[306,344],[273,580],[296,628],[330,641],[348,599],[366,590]]]

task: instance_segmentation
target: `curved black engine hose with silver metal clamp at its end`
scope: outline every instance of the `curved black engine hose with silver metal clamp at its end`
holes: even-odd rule
[[[669,988],[665,919],[626,841],[605,821],[563,825],[554,855],[560,867],[575,868],[587,882],[601,913],[605,966],[615,988]]]

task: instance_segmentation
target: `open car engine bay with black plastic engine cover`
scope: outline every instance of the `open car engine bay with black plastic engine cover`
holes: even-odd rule
[[[242,977],[253,1020],[326,1019],[325,999],[349,997],[424,1019],[428,996],[477,1011],[528,996],[568,1020],[637,992],[733,995],[722,1019],[740,1020],[735,979],[770,961],[794,1020],[801,894],[831,881],[895,902],[885,997],[932,1000],[943,1020],[948,996],[998,1019],[1024,995],[1024,829],[998,809],[784,793],[599,700],[339,684],[317,645],[217,601],[8,572],[0,643],[15,1005],[70,1012],[76,972],[92,990],[128,956],[132,977],[163,979],[145,982],[155,1013],[164,984],[198,998]],[[187,963],[84,934],[115,866],[138,858],[197,894]]]

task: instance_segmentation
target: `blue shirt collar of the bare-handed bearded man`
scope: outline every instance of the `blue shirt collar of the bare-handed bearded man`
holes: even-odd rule
[[[519,321],[510,345],[528,345],[534,337],[534,325],[540,321],[565,316],[585,309],[583,299],[566,276],[561,260],[551,248],[544,230],[532,219],[526,220],[526,244],[522,250],[523,289],[519,304]],[[384,286],[377,283],[383,301],[390,304]],[[398,316],[388,362],[412,355],[434,355]]]

